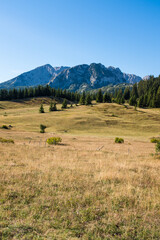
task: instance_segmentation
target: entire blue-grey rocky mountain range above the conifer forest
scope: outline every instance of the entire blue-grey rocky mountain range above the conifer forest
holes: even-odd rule
[[[74,67],[52,67],[50,64],[46,64],[0,83],[0,89],[48,84],[54,88],[82,92],[108,85],[134,84],[140,80],[142,78],[139,76],[123,73],[119,68],[107,68],[101,63],[81,64]]]

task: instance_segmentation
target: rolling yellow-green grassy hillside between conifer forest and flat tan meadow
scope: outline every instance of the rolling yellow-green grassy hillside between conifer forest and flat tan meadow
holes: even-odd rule
[[[43,99],[45,114],[39,114],[41,100],[1,102],[0,125],[11,124],[13,131],[38,132],[47,125],[47,132],[102,136],[144,136],[158,134],[159,109],[137,109],[117,104],[74,106],[68,110],[49,112],[49,99]],[[61,110],[61,104],[58,104]],[[15,110],[16,109],[16,110]]]

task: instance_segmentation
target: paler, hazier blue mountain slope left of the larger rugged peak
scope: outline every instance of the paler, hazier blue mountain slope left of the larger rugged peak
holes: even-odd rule
[[[0,88],[10,89],[45,85],[66,68],[67,67],[53,68],[51,65],[46,64],[44,66],[35,68],[29,72],[25,72],[9,81],[1,83]]]

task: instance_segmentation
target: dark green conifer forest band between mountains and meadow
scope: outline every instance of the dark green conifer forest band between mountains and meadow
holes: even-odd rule
[[[142,80],[133,87],[126,87],[125,90],[119,89],[114,93],[105,92],[99,89],[97,93],[90,92],[71,92],[62,89],[54,89],[50,86],[38,86],[25,89],[1,89],[0,100],[16,100],[33,97],[52,97],[65,98],[69,101],[80,103],[81,105],[89,105],[92,100],[97,102],[116,102],[124,104],[128,102],[131,106],[138,107],[160,107],[160,76],[149,80]]]

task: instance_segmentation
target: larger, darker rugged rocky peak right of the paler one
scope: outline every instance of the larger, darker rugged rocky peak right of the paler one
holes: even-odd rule
[[[49,82],[54,88],[71,91],[84,91],[101,88],[110,84],[135,83],[141,80],[133,74],[122,73],[119,68],[108,67],[102,64],[82,64],[65,69]]]

